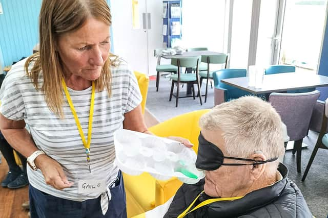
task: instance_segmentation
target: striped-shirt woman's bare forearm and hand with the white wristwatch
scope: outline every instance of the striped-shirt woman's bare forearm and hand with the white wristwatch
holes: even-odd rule
[[[25,157],[29,157],[38,148],[30,133],[25,129],[25,125],[24,120],[11,120],[0,114],[0,129],[10,146]],[[35,158],[34,163],[41,170],[48,185],[57,189],[72,186],[73,183],[67,180],[63,167],[54,159],[42,154]]]

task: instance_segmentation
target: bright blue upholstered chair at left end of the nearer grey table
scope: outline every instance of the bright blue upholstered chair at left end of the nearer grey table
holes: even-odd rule
[[[231,99],[237,99],[243,95],[250,95],[251,93],[248,91],[244,91],[221,82],[222,79],[245,77],[246,73],[246,69],[220,69],[213,72],[215,86],[214,105],[228,102]]]

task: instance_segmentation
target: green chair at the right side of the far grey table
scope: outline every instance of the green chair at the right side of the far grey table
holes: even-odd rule
[[[225,64],[224,69],[227,68],[227,62],[228,62],[228,55],[221,54],[221,55],[202,55],[201,56],[201,62],[206,63],[207,70],[199,72],[200,76],[200,86],[202,85],[203,79],[206,79],[206,91],[205,91],[205,103],[207,100],[207,92],[208,92],[208,85],[209,80],[213,80],[213,71],[210,70],[210,64]],[[212,85],[212,83],[211,83]]]

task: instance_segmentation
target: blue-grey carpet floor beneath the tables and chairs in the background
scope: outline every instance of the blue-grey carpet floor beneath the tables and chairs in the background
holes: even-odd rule
[[[160,122],[190,111],[212,108],[214,105],[213,89],[209,89],[208,101],[202,106],[200,106],[199,99],[185,98],[179,99],[179,105],[176,108],[174,97],[169,102],[170,87],[171,82],[165,78],[161,78],[158,92],[156,92],[155,81],[150,81],[149,84],[146,107]],[[204,93],[203,89],[202,93]],[[186,86],[180,90],[181,94],[185,94]],[[174,91],[176,91],[176,87]],[[302,149],[301,174],[296,171],[296,156],[292,154],[292,151],[286,151],[283,162],[289,168],[289,178],[300,188],[313,215],[317,218],[325,218],[328,217],[328,150],[319,149],[308,177],[305,182],[301,182],[301,177],[308,164],[316,140],[317,133],[312,131],[303,140],[304,143],[309,144],[309,147]]]

